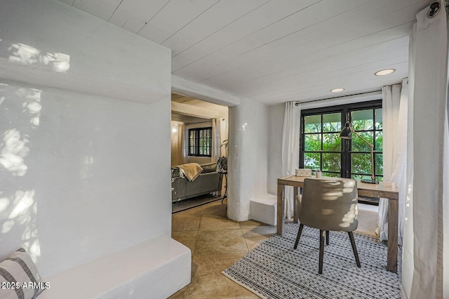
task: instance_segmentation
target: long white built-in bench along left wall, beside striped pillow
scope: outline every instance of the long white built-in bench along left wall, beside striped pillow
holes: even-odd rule
[[[168,298],[190,283],[190,249],[166,235],[73,267],[43,281],[39,299]]]

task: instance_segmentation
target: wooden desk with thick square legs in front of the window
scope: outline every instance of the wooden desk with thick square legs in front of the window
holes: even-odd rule
[[[282,235],[285,213],[283,202],[283,190],[285,186],[293,187],[293,198],[295,199],[294,216],[295,222],[298,220],[298,209],[296,196],[298,187],[304,186],[304,178],[295,175],[289,175],[278,179],[278,215],[277,215],[277,234]],[[313,177],[312,177],[313,178]],[[323,178],[326,179],[326,178]],[[316,179],[320,180],[320,179]],[[388,242],[387,242],[387,270],[398,272],[398,187],[395,183],[380,182],[379,184],[366,184],[357,181],[357,192],[359,197],[377,197],[386,198],[388,201]]]

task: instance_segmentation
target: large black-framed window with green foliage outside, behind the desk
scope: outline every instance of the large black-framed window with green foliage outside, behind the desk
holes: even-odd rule
[[[375,150],[375,177],[382,180],[382,101],[303,110],[300,167],[321,170],[323,176],[370,179],[370,146],[356,134],[342,140],[346,123]]]

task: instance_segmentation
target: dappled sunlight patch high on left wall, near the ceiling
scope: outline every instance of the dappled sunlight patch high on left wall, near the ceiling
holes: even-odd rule
[[[55,72],[67,72],[70,68],[70,55],[65,53],[42,53],[38,48],[21,43],[11,44],[8,51],[11,62],[51,65]]]

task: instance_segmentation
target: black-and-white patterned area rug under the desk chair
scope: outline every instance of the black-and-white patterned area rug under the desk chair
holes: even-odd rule
[[[354,232],[361,268],[347,232],[330,232],[318,274],[319,230],[305,227],[293,249],[298,223],[288,223],[222,273],[262,298],[401,298],[399,275],[386,270],[387,245]]]

